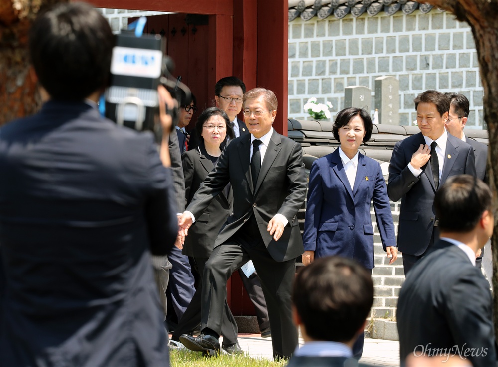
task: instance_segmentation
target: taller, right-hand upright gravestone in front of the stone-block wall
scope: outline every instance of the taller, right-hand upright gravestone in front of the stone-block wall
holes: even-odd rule
[[[399,125],[399,81],[396,78],[375,79],[375,108],[380,124]]]

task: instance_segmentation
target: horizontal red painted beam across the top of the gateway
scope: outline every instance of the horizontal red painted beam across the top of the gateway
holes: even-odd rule
[[[234,0],[87,0],[107,9],[168,11],[185,14],[234,14]]]

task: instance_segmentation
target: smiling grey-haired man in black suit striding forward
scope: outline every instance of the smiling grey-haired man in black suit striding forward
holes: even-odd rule
[[[290,291],[296,257],[304,251],[296,215],[305,199],[306,175],[300,145],[272,128],[277,104],[275,94],[264,88],[244,95],[250,135],[228,144],[180,219],[187,235],[212,198],[231,184],[234,214],[220,231],[204,271],[202,332],[180,337],[189,349],[210,354],[220,350],[226,283],[249,260],[268,305],[273,356],[289,357],[297,345]]]

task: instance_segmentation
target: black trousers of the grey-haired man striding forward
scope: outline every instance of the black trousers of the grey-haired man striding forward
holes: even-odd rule
[[[273,356],[288,358],[298,343],[291,311],[296,261],[292,259],[280,263],[271,257],[253,217],[226,243],[216,247],[205,265],[201,328],[207,327],[221,334],[227,281],[249,260],[254,263],[266,299]]]

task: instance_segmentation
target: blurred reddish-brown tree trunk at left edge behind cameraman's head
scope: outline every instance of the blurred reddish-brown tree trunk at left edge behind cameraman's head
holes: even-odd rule
[[[55,2],[61,0],[0,0],[0,126],[41,104],[30,73],[28,31],[40,8]]]

